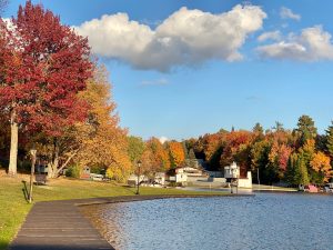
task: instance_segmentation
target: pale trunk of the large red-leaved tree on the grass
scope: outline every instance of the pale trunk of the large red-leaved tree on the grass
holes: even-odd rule
[[[17,122],[16,110],[11,111],[10,132],[11,136],[10,136],[10,157],[9,157],[8,174],[16,176],[17,166],[18,166],[18,143],[19,143],[19,124]]]

